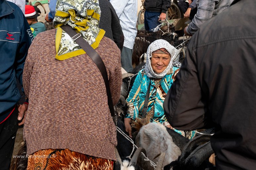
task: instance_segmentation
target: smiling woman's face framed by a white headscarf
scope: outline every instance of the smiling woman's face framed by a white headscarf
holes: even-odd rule
[[[156,73],[161,73],[163,72],[167,66],[170,63],[171,56],[168,54],[152,54],[152,57],[150,58],[151,60],[151,67],[154,72]]]

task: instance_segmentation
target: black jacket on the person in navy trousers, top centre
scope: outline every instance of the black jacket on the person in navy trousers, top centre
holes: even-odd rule
[[[171,7],[170,0],[146,0],[144,2],[146,11],[166,13],[168,8]]]

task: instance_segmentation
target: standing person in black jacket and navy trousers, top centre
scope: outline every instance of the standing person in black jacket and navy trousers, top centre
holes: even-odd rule
[[[151,31],[157,25],[158,21],[165,20],[166,12],[171,7],[170,0],[145,0],[144,25],[147,31]]]

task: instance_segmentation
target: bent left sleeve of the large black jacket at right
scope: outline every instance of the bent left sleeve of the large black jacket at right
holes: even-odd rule
[[[192,40],[196,40],[193,36]],[[186,59],[176,80],[164,101],[164,111],[168,122],[179,130],[195,130],[207,125],[206,103],[198,79],[195,41],[191,41]]]

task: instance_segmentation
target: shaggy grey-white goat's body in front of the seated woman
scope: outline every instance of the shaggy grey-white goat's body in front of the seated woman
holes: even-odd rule
[[[136,136],[135,143],[138,147],[146,149],[148,158],[155,164],[158,161],[158,157],[155,158],[155,156],[165,153],[162,168],[170,162],[177,160],[181,155],[179,147],[174,144],[166,128],[160,124],[149,123],[141,127]],[[144,161],[144,157],[140,156],[138,161],[143,169],[153,169],[148,161]]]

